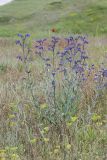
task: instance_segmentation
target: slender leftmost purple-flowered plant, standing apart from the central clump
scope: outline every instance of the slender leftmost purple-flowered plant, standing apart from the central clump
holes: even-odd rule
[[[32,104],[37,107],[38,100],[35,96],[34,90],[36,90],[36,84],[32,76],[32,50],[30,43],[30,34],[18,34],[19,39],[16,41],[16,44],[21,48],[20,54],[17,56],[19,63],[21,63],[24,71],[26,73],[26,78],[24,78],[24,83],[22,83],[29,94],[29,98],[32,99]]]

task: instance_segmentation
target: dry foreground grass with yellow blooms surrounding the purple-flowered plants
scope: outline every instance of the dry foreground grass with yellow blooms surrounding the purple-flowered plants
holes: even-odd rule
[[[0,160],[106,160],[107,97],[103,94],[93,104],[92,75],[82,88],[76,115],[54,125],[45,117],[40,59],[36,57],[32,65],[35,96],[40,102],[35,108],[26,87],[27,76],[18,68],[19,48],[10,39],[0,42],[0,64],[7,66],[0,75]],[[64,45],[62,41],[60,46]],[[106,51],[106,39],[90,38],[87,50],[93,56],[90,63],[98,64]]]

